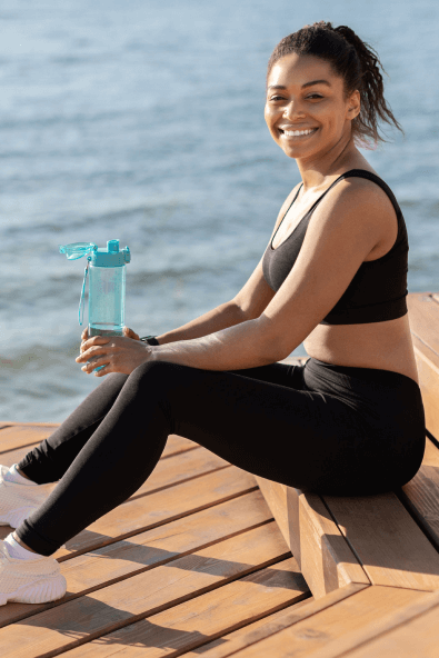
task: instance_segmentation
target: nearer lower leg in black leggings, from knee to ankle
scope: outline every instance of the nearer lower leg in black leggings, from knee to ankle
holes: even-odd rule
[[[127,500],[149,477],[172,433],[166,400],[161,403],[160,393],[156,395],[153,379],[138,369],[127,379],[111,410],[56,489],[17,528],[22,546],[52,555]]]

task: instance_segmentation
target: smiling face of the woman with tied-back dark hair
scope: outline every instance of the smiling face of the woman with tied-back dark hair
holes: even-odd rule
[[[359,112],[359,92],[346,99],[343,79],[322,59],[291,53],[270,71],[265,117],[271,137],[289,158],[315,159],[343,142],[343,137],[348,141],[351,120]]]

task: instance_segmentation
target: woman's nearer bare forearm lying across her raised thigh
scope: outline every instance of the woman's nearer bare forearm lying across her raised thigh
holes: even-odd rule
[[[208,336],[151,347],[150,360],[170,361],[201,370],[242,370],[283,358],[269,326],[257,318]]]

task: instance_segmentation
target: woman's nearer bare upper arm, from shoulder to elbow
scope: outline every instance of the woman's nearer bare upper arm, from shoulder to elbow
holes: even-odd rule
[[[295,266],[261,315],[281,358],[336,306],[381,240],[388,206],[376,186],[359,180],[340,181],[316,208]]]

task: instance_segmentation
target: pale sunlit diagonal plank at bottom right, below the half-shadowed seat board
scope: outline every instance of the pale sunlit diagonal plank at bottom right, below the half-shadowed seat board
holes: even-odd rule
[[[325,651],[343,636],[379,622],[390,609],[401,610],[420,600],[423,592],[396,587],[367,587],[335,606],[325,608],[302,621],[271,635],[270,637],[233,654],[236,658],[267,658],[293,656],[316,658],[318,649]],[[325,599],[323,599],[325,600]],[[369,654],[369,657],[373,654]],[[212,658],[206,654],[203,658]]]

